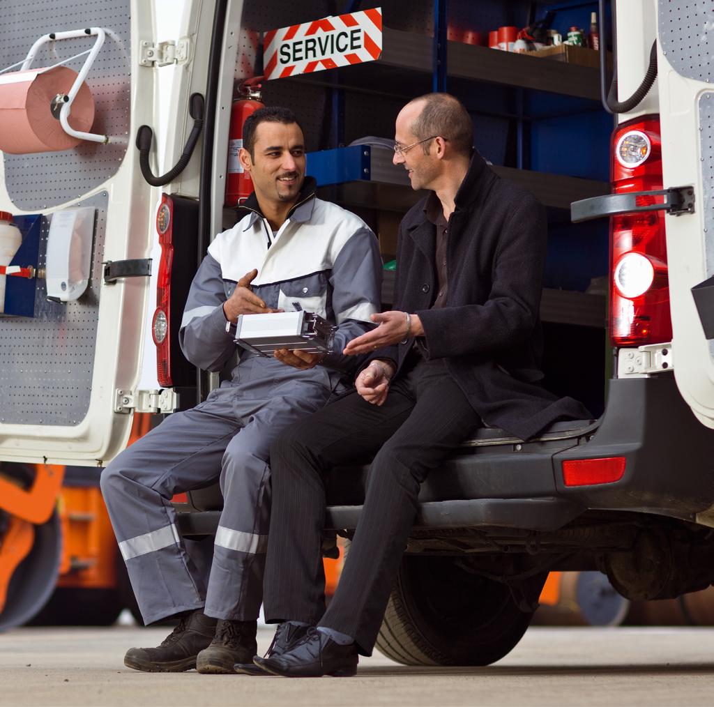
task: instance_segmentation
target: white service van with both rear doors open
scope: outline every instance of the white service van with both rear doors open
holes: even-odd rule
[[[12,21],[0,30],[3,66],[22,68],[43,37],[30,68],[89,51],[99,36],[104,41],[86,74],[95,106],[91,131],[102,139],[61,151],[6,151],[0,163],[0,211],[13,214],[23,234],[14,265],[34,274],[6,277],[6,314],[14,316],[0,317],[1,460],[104,466],[126,445],[136,411],[170,413],[216,385],[217,376],[183,360],[177,336],[193,271],[211,237],[236,219],[224,208],[229,142],[236,139],[234,87],[274,71],[263,66],[266,33],[294,34],[305,24],[327,31],[313,21],[343,9],[336,5],[98,0],[89,16],[70,2],[34,12],[26,0],[4,0]],[[546,13],[552,5],[493,2],[481,21],[526,24],[526,6]],[[516,169],[525,166],[522,92],[567,94],[600,110],[598,71],[497,52],[476,40],[446,41],[445,18],[433,14],[431,0],[351,2],[348,13],[381,7],[376,61],[316,61],[300,75],[286,67],[264,86],[266,102],[295,109],[308,148],[320,151],[308,156],[308,170],[319,171],[323,194],[373,218],[386,255],[395,252],[389,214],[403,213],[419,195],[391,171],[378,141],[344,144],[391,137],[399,107],[446,81],[469,106],[481,91],[493,99],[482,106],[484,139],[518,146],[517,164],[496,166],[499,174],[521,181],[560,214],[575,202],[574,221],[610,219],[615,365],[604,411],[593,420],[555,423],[528,442],[485,428],[423,484],[377,644],[403,663],[498,660],[526,631],[551,570],[599,569],[633,599],[679,596],[714,580],[714,305],[705,282],[714,275],[714,17],[694,0],[612,5],[617,84],[609,106],[616,120],[610,144],[601,141],[609,185]],[[451,8],[453,18],[469,21],[472,4]],[[598,3],[585,9],[598,11]],[[169,14],[175,36],[159,41]],[[64,31],[79,36],[63,39]],[[608,21],[600,33],[607,46]],[[66,63],[79,71],[87,56]],[[0,72],[0,111],[6,75]],[[494,91],[501,89],[504,106],[515,101],[508,104],[517,106],[515,119],[511,107],[497,106],[503,96]],[[608,89],[603,85],[605,96]],[[51,99],[61,114],[58,96]],[[163,124],[161,115],[168,116]],[[499,132],[498,121],[514,120],[511,133]],[[153,139],[141,126],[153,129]],[[0,135],[0,146],[7,144]],[[577,160],[567,143],[562,159]],[[154,177],[166,173],[166,180]],[[85,225],[75,225],[80,221]],[[60,255],[68,275],[59,277],[59,294],[48,290],[55,287],[49,242],[66,244]],[[91,261],[84,277],[71,280],[86,279],[84,290],[69,299],[61,283],[69,283],[67,254],[77,242],[91,244]],[[387,278],[386,304],[389,296]],[[602,295],[546,291],[544,307],[556,301],[563,304],[542,310],[546,322],[603,320]],[[600,386],[602,350],[569,346],[560,342],[573,379]],[[365,474],[355,468],[331,483],[328,531],[353,533]],[[210,534],[220,494],[188,496],[180,506],[184,536]],[[0,512],[12,515],[1,498]]]

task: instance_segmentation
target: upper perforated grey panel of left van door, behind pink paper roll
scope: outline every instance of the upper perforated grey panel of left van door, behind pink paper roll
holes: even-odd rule
[[[0,69],[21,61],[39,37],[53,31],[98,26],[106,41],[87,76],[96,117],[91,132],[109,135],[109,144],[83,141],[57,152],[4,154],[5,181],[13,204],[46,211],[81,199],[116,174],[129,143],[131,16],[129,0],[1,0]],[[33,68],[51,66],[90,49],[94,37],[46,44]],[[85,57],[67,66],[79,71]]]

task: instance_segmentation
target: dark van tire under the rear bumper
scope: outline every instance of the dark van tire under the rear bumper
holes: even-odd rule
[[[486,666],[516,646],[532,617],[506,584],[467,571],[459,558],[406,556],[376,647],[408,666]]]

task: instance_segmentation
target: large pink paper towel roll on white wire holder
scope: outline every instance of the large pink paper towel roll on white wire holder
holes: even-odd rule
[[[67,150],[81,139],[62,129],[52,114],[52,101],[68,94],[77,77],[66,66],[31,69],[0,74],[0,150],[11,154]],[[75,130],[89,131],[94,122],[94,98],[82,84],[72,103],[69,124]]]

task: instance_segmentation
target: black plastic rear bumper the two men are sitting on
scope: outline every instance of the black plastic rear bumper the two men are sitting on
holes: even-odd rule
[[[598,423],[558,423],[528,443],[480,431],[423,483],[415,525],[553,531],[588,510],[706,522],[714,504],[713,450],[714,431],[695,419],[672,376],[613,380]],[[564,460],[611,456],[625,457],[620,481],[563,483]],[[329,528],[356,527],[367,473],[368,467],[338,468],[328,476]],[[181,514],[184,534],[215,529],[220,498],[211,503],[212,518]]]

